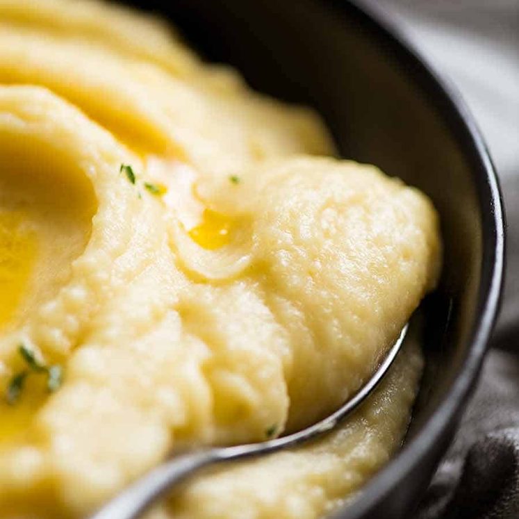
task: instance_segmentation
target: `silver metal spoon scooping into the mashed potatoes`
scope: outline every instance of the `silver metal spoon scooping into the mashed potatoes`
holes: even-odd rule
[[[192,475],[199,468],[221,463],[223,461],[236,461],[242,458],[262,456],[285,447],[294,447],[299,443],[313,440],[322,434],[335,429],[354,409],[356,409],[379,385],[390,365],[395,360],[408,325],[402,329],[399,338],[386,354],[372,377],[362,386],[340,409],[306,429],[297,431],[288,436],[274,438],[259,443],[236,445],[234,447],[214,447],[198,452],[176,456],[170,461],[165,461],[146,475],[131,484],[122,493],[113,498],[90,519],[137,519],[143,512],[149,509],[159,497],[166,491]]]

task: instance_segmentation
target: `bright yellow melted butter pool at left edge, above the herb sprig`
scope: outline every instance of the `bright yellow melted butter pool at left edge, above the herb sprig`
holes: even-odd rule
[[[36,233],[19,211],[0,211],[0,330],[13,318],[35,262]]]

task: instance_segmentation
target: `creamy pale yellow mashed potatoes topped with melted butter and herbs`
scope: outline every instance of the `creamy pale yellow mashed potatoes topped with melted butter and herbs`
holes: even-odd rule
[[[329,158],[325,158],[328,156]],[[86,518],[170,452],[336,409],[439,265],[418,190],[105,3],[0,0],[0,519]],[[154,518],[318,518],[402,441],[409,344],[338,431]]]

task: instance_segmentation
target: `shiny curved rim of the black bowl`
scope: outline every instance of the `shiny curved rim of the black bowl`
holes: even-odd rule
[[[363,487],[361,498],[346,504],[332,516],[360,519],[384,497],[388,498],[404,476],[409,476],[439,438],[451,440],[459,415],[481,372],[497,314],[504,282],[505,215],[499,181],[481,131],[459,90],[422,55],[395,19],[376,0],[327,0],[337,12],[354,13],[365,28],[376,33],[395,53],[399,63],[410,67],[420,90],[427,94],[447,127],[459,141],[475,181],[481,208],[481,271],[475,315],[466,358],[443,401],[422,427],[422,431],[393,456],[388,464]],[[438,461],[439,463],[439,461]]]

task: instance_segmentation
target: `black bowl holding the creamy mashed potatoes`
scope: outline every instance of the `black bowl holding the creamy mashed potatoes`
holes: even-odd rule
[[[170,17],[204,56],[235,65],[254,88],[314,106],[343,156],[378,165],[433,199],[445,265],[436,294],[422,305],[427,365],[411,428],[402,450],[337,515],[406,516],[452,439],[500,298],[504,215],[472,116],[373,7],[347,0],[133,4]]]

